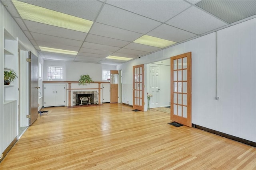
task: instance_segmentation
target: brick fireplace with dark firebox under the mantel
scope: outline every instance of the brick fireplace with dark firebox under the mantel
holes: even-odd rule
[[[81,97],[90,97],[91,104],[97,104],[97,91],[74,91],[72,95],[73,106],[78,106],[80,104]]]

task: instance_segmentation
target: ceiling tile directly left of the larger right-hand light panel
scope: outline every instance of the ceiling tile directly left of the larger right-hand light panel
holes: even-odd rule
[[[102,36],[93,35],[93,34],[88,34],[85,41],[90,43],[96,43],[96,44],[107,44],[114,47],[124,47],[125,45],[130,43],[128,41],[122,41],[119,39],[102,37]]]

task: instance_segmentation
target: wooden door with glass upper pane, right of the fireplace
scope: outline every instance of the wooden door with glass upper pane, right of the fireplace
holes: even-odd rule
[[[118,103],[118,70],[110,70],[110,103]]]

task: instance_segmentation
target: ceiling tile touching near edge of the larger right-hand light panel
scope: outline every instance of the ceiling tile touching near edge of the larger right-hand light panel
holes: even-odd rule
[[[166,24],[162,24],[156,29],[153,29],[152,31],[147,33],[147,35],[167,39],[174,42],[184,41],[185,39],[196,36],[196,34]]]

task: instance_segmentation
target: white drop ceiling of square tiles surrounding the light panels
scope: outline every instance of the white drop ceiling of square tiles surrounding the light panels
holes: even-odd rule
[[[22,0],[93,21],[88,32],[22,19],[11,0],[1,0],[43,59],[121,64],[161,49],[256,18],[256,0]],[[135,43],[149,35],[174,41],[160,48]],[[136,41],[138,42],[138,41]],[[39,47],[78,51],[77,55]]]

